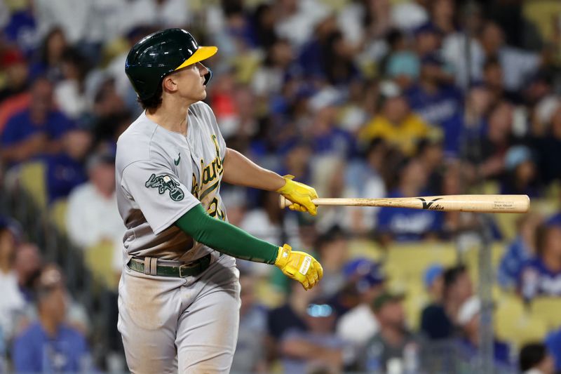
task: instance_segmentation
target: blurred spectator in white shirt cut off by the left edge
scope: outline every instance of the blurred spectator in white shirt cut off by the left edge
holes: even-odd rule
[[[18,318],[25,309],[25,298],[18,286],[18,273],[15,271],[15,225],[13,220],[0,217],[0,340],[12,337]]]

